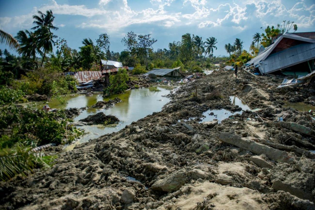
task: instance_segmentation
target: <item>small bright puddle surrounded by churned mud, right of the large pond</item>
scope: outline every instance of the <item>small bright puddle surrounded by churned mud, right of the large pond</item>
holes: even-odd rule
[[[213,121],[215,119],[218,120],[218,123],[221,123],[222,120],[228,118],[231,115],[242,114],[244,110],[250,110],[250,108],[241,99],[239,99],[238,97],[230,96],[230,100],[231,100],[232,104],[238,105],[243,110],[242,111],[235,111],[233,113],[231,111],[226,110],[226,109],[208,110],[208,111],[203,112],[203,115],[206,116],[206,117],[204,117],[200,123]],[[213,112],[214,115],[209,115],[211,112]]]

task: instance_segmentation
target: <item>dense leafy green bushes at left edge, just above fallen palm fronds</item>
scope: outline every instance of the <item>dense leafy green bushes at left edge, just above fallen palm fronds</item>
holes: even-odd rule
[[[46,112],[16,105],[0,109],[0,131],[7,130],[7,136],[0,138],[2,147],[11,147],[17,142],[27,145],[71,142],[82,133],[74,126],[67,125],[64,111]]]

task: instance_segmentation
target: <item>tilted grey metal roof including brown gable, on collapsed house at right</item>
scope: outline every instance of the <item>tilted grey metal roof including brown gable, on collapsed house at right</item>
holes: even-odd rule
[[[262,75],[315,58],[315,40],[284,33],[258,56],[245,63],[256,67]]]

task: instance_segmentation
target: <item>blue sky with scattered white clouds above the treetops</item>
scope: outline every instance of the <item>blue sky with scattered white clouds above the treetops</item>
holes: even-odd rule
[[[153,49],[168,49],[191,33],[218,41],[215,56],[227,56],[224,45],[236,38],[248,50],[261,27],[294,21],[297,32],[315,31],[315,0],[0,0],[0,29],[16,35],[33,27],[37,11],[52,10],[54,31],[78,49],[84,38],[96,40],[101,33],[110,36],[110,50],[123,51],[121,39],[130,31],[152,34]],[[4,45],[0,49],[4,50]],[[12,50],[11,50],[12,52]]]

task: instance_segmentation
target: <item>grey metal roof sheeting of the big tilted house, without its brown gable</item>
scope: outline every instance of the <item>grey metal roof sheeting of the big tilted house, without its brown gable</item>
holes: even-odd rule
[[[297,49],[296,51],[292,51],[292,50],[289,50],[293,47],[289,47],[287,49],[284,49],[282,51],[279,51],[279,52],[276,52],[276,53],[273,53],[272,55],[270,55],[272,53],[272,51],[276,48],[276,46],[281,42],[282,39],[284,38],[288,38],[288,39],[295,39],[295,40],[299,40],[299,41],[303,41],[303,42],[307,42],[307,43],[315,43],[315,40],[314,39],[308,39],[308,38],[305,38],[305,37],[301,37],[301,36],[298,36],[298,35],[295,35],[295,34],[292,34],[292,33],[284,33],[283,35],[281,35],[272,45],[266,47],[264,49],[264,51],[262,51],[258,56],[254,57],[253,59],[251,59],[249,62],[245,63],[244,65],[246,67],[250,67],[250,66],[254,66],[254,67],[258,67],[261,74],[266,74],[266,73],[270,73],[272,71],[276,71],[276,70],[279,70],[281,68],[284,68],[285,66],[288,66],[288,65],[285,65],[285,64],[289,64],[292,65],[294,63],[301,63],[301,62],[304,62],[305,59],[312,59],[313,57],[313,53],[312,51],[314,51],[314,48],[312,45],[308,45],[308,44],[299,44],[299,45],[295,45],[293,46],[295,49]],[[314,45],[315,46],[315,45]],[[301,49],[301,47],[303,49]],[[289,54],[280,54],[282,52],[287,52]],[[295,55],[298,55],[298,54],[301,54],[299,56],[296,56],[295,58],[297,59],[287,59],[287,63],[284,62],[284,59],[288,58],[288,57],[292,57],[292,56],[295,56]],[[315,52],[314,52],[315,53]],[[264,62],[268,56],[272,56],[273,59],[268,59],[269,61],[266,61]],[[274,56],[282,56],[281,58],[280,57],[277,57],[275,58]],[[281,61],[282,59],[282,61]],[[277,63],[277,66],[272,66],[271,64],[272,63]],[[293,62],[293,63],[292,63]],[[262,69],[261,66],[266,66],[268,65],[268,63],[270,64],[269,68],[268,69]],[[275,68],[277,67],[277,68]]]

